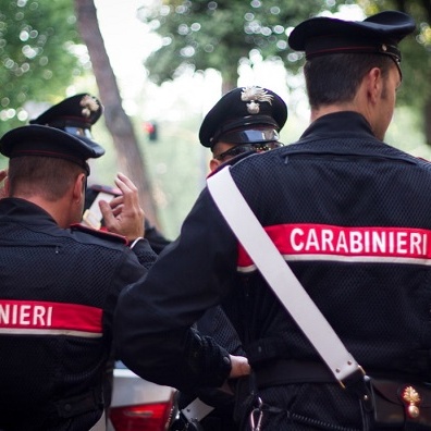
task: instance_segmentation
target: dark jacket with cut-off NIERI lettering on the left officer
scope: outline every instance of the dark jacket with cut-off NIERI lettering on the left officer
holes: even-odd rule
[[[150,266],[148,243],[137,247]],[[0,429],[91,428],[116,299],[147,272],[141,263],[120,237],[63,230],[32,202],[0,200]]]

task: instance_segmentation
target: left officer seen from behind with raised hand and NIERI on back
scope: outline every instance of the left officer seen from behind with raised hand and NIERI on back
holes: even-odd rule
[[[27,125],[3,135],[0,151],[10,159],[0,199],[0,429],[103,429],[116,299],[156,259],[146,239],[135,242],[143,219],[130,212],[128,237],[79,224],[87,161],[104,152],[93,140]],[[118,185],[124,206],[137,208],[130,180]]]

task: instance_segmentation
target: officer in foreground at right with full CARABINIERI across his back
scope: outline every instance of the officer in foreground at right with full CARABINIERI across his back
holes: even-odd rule
[[[367,372],[426,383],[431,254],[423,245],[431,241],[431,165],[384,143],[402,84],[398,44],[414,30],[411,17],[397,11],[360,22],[320,16],[300,23],[288,42],[305,52],[311,124],[297,143],[229,169]],[[190,328],[217,304],[234,323],[251,366],[236,394],[241,430],[253,429],[254,409],[255,424],[260,421],[266,431],[375,429],[368,427],[370,410],[329,371],[205,189],[178,241],[121,295],[121,357],[139,375],[184,391],[247,375],[247,362]],[[418,412],[427,403],[412,401]],[[429,430],[427,418],[406,412],[390,429]]]

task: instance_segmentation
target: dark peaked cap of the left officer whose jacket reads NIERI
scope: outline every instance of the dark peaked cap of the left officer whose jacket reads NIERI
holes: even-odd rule
[[[88,171],[86,160],[102,156],[104,150],[59,128],[32,124],[7,132],[0,138],[0,152],[10,159],[22,156],[64,159]]]

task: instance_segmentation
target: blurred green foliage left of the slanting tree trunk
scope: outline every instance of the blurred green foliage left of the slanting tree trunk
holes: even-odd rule
[[[26,102],[64,97],[83,72],[79,42],[71,0],[1,1],[0,134],[27,123]]]

